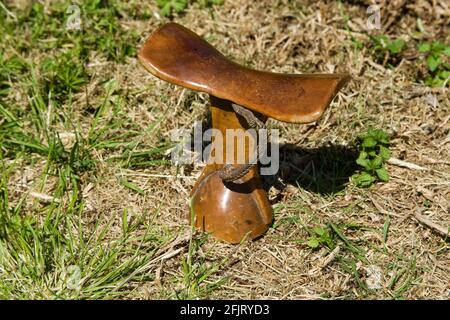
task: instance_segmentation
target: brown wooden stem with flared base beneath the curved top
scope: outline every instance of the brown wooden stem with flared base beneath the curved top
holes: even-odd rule
[[[237,164],[237,145],[243,141],[237,139],[234,148],[227,148],[233,142],[228,141],[230,138],[227,137],[226,129],[247,130],[249,127],[245,119],[234,112],[231,102],[214,96],[210,96],[210,100],[212,127],[220,130],[223,140],[220,148],[220,141],[213,139],[208,164],[191,192],[191,210],[195,215],[195,225],[231,243],[238,243],[246,238],[254,239],[267,230],[273,219],[272,207],[262,188],[259,167],[252,167],[235,182],[224,182],[218,173],[224,163],[217,163],[216,160],[221,158],[215,157],[215,152],[222,149],[223,159],[233,159],[233,163]],[[261,121],[266,120],[261,115],[258,115],[258,118]],[[245,161],[251,157],[256,144],[252,137],[247,138],[249,140],[245,143]]]

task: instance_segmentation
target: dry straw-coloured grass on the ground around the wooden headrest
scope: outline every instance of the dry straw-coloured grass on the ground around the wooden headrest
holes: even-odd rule
[[[446,4],[422,0],[402,3],[381,5],[382,25],[387,26],[384,33],[411,38],[420,17],[429,39],[449,42]],[[348,72],[352,81],[316,124],[269,122],[270,127],[281,130],[283,143],[300,143],[295,150],[283,149],[276,183],[266,181],[275,223],[252,243],[233,246],[199,234],[190,239],[187,199],[201,165],[133,167],[110,161],[123,150],[94,150],[98,161],[95,172],[80,177],[86,203],[84,227],[90,228],[100,217],[114,221],[111,235],[104,240],[107,242],[121,232],[126,208],[131,219],[144,217],[151,221],[155,234],[166,239],[166,247],[155,255],[159,260],[149,264],[146,271],[152,280],[133,282],[134,289],[126,298],[174,298],[175,292],[179,297],[217,299],[449,298],[448,240],[427,225],[427,221],[434,222],[444,231],[450,225],[448,89],[417,84],[417,60],[403,59],[388,68],[374,61],[366,46],[355,47],[355,39],[368,41],[366,5],[364,1],[226,0],[209,9],[193,4],[174,17],[236,62],[275,72]],[[394,10],[396,5],[403,9]],[[153,4],[142,7],[157,10]],[[345,16],[349,18],[348,30]],[[123,28],[135,29],[142,42],[164,22],[166,19],[157,15],[145,20],[125,15],[120,20]],[[111,134],[132,128],[137,132],[131,137],[136,142],[135,151],[151,150],[169,140],[170,130],[190,128],[195,120],[207,116],[206,95],[156,79],[134,57],[123,64],[91,59],[89,103],[94,105],[104,98],[102,81],[117,81],[120,94],[127,96],[126,108],[118,114],[109,110],[100,123],[120,118],[123,123]],[[437,98],[438,106],[427,102],[429,94]],[[21,101],[24,96],[18,92],[10,99]],[[83,136],[93,121],[85,107],[86,94],[80,92],[73,103],[73,122]],[[388,183],[359,189],[349,182],[353,166],[336,174],[333,166],[322,163],[336,161],[336,146],[350,154],[356,135],[369,126],[391,135],[395,158],[425,170],[388,164]],[[66,143],[73,143],[70,135]],[[32,163],[24,161],[15,168],[8,182],[12,203],[24,192],[53,194],[57,179],[39,180],[46,161],[37,156]],[[296,167],[321,176],[325,182],[314,185],[301,177],[289,178],[298,175]],[[125,188],[118,182],[120,178],[134,183],[143,193]],[[336,179],[334,189],[323,185]],[[31,197],[28,200],[25,212],[39,214],[42,204]],[[62,201],[66,201],[64,197]],[[425,223],[417,217],[425,217]],[[312,250],[304,243],[308,229],[330,223],[340,228],[350,247],[360,251],[350,250],[338,236],[333,238],[334,251],[325,247]],[[190,275],[183,271],[183,257],[193,266]],[[202,268],[211,275],[189,289],[203,274]],[[221,285],[212,286],[221,279]],[[368,289],[373,282],[378,288]]]

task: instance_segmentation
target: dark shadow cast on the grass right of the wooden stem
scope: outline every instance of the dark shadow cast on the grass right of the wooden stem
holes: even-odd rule
[[[264,188],[282,191],[291,184],[321,195],[345,188],[357,169],[358,151],[352,146],[324,145],[302,148],[280,144],[280,168],[275,175],[263,176]]]

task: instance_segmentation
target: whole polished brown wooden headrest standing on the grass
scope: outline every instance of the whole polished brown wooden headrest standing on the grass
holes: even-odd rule
[[[227,147],[231,141],[225,131],[249,128],[231,103],[254,111],[261,121],[271,117],[294,123],[313,122],[322,116],[349,77],[279,74],[246,68],[176,23],[153,32],[141,48],[139,60],[165,81],[210,94],[212,127],[222,132],[222,140],[213,139],[208,163],[191,192],[189,217],[196,227],[230,243],[264,234],[272,223],[273,211],[258,166],[233,182],[225,182],[219,176],[225,162],[218,159],[231,159],[236,167],[240,164],[236,144],[234,149]],[[249,138],[244,143],[245,162],[253,154],[256,141]]]

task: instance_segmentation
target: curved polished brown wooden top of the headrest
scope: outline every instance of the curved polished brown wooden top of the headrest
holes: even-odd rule
[[[294,123],[320,118],[349,79],[346,74],[280,74],[246,68],[176,23],[150,35],[139,60],[165,81]]]

